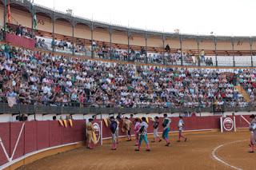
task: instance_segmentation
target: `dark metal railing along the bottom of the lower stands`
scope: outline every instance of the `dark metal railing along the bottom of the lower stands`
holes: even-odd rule
[[[218,107],[218,108],[217,108]],[[72,107],[72,106],[49,106],[49,105],[14,105],[10,107],[7,103],[0,103],[0,113],[10,114],[109,114],[109,113],[224,113],[224,112],[251,112],[256,111],[255,106],[231,107],[222,105],[210,105],[209,107],[182,106],[174,107]]]

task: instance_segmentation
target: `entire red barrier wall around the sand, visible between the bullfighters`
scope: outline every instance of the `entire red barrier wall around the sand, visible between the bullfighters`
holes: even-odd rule
[[[236,116],[236,127],[247,128],[249,115]],[[101,120],[96,120],[100,122]],[[178,131],[178,117],[171,118],[170,129]],[[185,131],[202,131],[220,128],[220,116],[183,117]],[[0,169],[15,163],[18,159],[41,152],[45,149],[74,144],[85,139],[86,121],[73,121],[74,126],[63,127],[58,121],[26,121],[0,123]],[[160,118],[162,124],[162,117]],[[110,138],[110,130],[102,121],[102,139]],[[121,131],[119,135],[125,136]],[[153,121],[149,117],[149,133],[153,133]],[[162,132],[160,125],[159,132]],[[133,130],[131,132],[134,133]]]

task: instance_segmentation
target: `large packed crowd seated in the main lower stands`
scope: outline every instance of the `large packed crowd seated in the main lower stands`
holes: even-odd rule
[[[80,107],[253,105],[254,69],[182,69],[94,61],[1,45],[0,101]],[[245,101],[235,85],[250,95]],[[14,103],[15,103],[14,102]]]

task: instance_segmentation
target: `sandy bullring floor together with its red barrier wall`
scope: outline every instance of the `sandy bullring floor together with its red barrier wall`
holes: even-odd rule
[[[178,118],[173,117],[171,129],[176,132],[170,134],[170,147],[164,146],[164,142],[150,143],[151,152],[145,151],[145,145],[142,146],[142,151],[134,152],[134,139],[122,139],[116,151],[110,150],[110,130],[104,123],[102,145],[99,139],[94,150],[86,149],[82,146],[83,142],[80,142],[84,136],[84,121],[74,121],[74,127],[66,128],[61,127],[57,121],[30,121],[25,123],[25,127],[22,127],[23,123],[2,123],[1,127],[11,127],[11,139],[15,142],[10,142],[10,150],[15,148],[21,128],[24,130],[14,152],[15,163],[9,167],[11,169],[22,164],[26,165],[18,169],[254,169],[255,156],[248,153],[249,140],[245,140],[250,134],[244,129],[248,126],[244,118],[247,120],[249,117],[235,116],[237,132],[224,133],[219,132],[219,118],[186,117],[185,134],[188,140],[177,142],[177,128],[174,125]],[[101,125],[101,120],[96,119],[94,122]],[[149,129],[150,132],[152,128]],[[98,132],[99,138],[100,133]],[[9,134],[6,135],[7,137],[2,135],[2,139],[8,139]],[[120,136],[122,135],[124,134],[121,132]],[[54,147],[58,144],[60,148]],[[9,150],[8,145],[6,149]],[[38,152],[30,155],[33,150]],[[15,160],[15,157],[21,159]],[[2,155],[2,160],[3,158]]]

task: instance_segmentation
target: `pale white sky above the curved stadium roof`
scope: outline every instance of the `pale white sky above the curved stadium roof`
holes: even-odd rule
[[[34,0],[55,10],[143,30],[256,36],[256,0]]]

